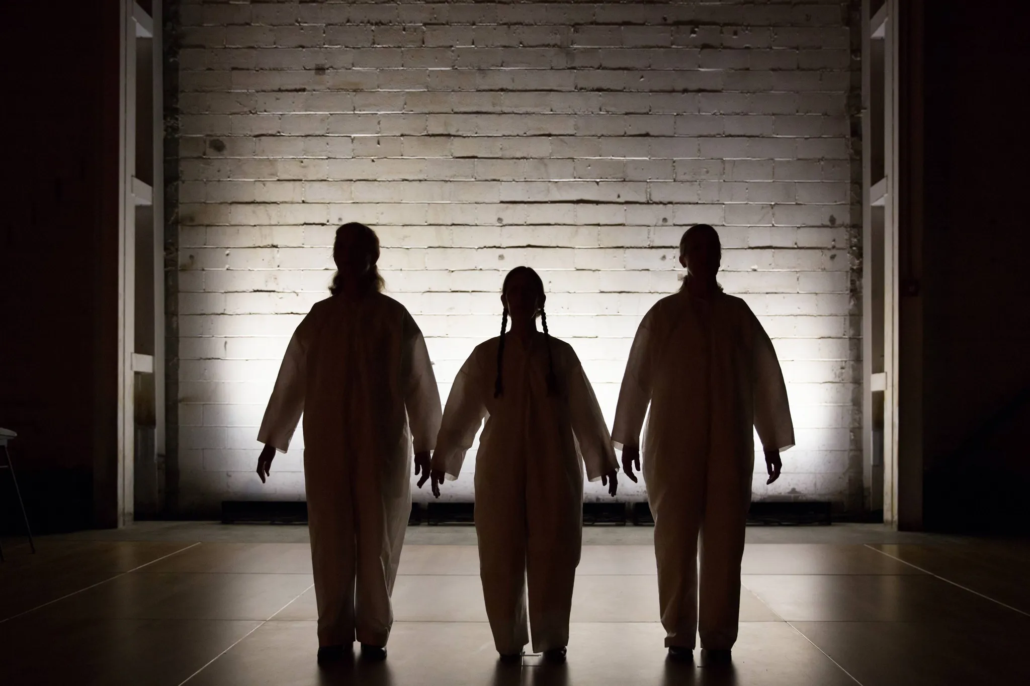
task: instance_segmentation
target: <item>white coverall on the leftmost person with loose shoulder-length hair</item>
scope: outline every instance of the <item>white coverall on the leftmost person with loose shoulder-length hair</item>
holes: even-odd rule
[[[286,349],[258,440],[285,453],[302,411],[319,645],[356,635],[384,646],[412,447],[433,448],[441,413],[425,340],[404,305],[381,293],[315,303]]]

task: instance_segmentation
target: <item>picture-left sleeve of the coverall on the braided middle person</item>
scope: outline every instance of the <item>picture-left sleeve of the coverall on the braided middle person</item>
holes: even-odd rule
[[[472,447],[476,432],[486,417],[477,352],[473,351],[454,378],[437,437],[437,449],[433,454],[433,469],[442,470],[448,480],[456,479],[460,473],[465,454]]]

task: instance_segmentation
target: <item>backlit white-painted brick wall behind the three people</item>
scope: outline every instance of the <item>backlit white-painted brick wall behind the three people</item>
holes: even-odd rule
[[[529,264],[609,422],[640,318],[679,285],[682,231],[715,224],[797,427],[756,497],[860,507],[848,8],[183,0],[182,510],[303,494],[303,437],[263,486],[254,436],[351,220],[379,232],[443,397],[500,328],[505,272]],[[446,497],[472,495],[469,466]]]

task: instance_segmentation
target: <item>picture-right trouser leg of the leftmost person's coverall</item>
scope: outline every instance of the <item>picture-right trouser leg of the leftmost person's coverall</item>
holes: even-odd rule
[[[352,480],[357,552],[354,628],[357,640],[370,646],[385,646],[393,625],[390,594],[411,512],[407,470],[403,466],[399,470],[403,484],[397,478],[384,479],[386,472],[376,461],[360,460]]]

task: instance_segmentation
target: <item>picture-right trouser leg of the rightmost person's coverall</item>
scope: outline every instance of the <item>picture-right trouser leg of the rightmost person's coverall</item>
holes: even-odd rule
[[[736,474],[720,474],[718,468],[709,473],[700,536],[698,626],[701,647],[708,650],[728,650],[736,643],[741,617],[741,559],[751,504],[750,477],[748,474],[745,485]]]

